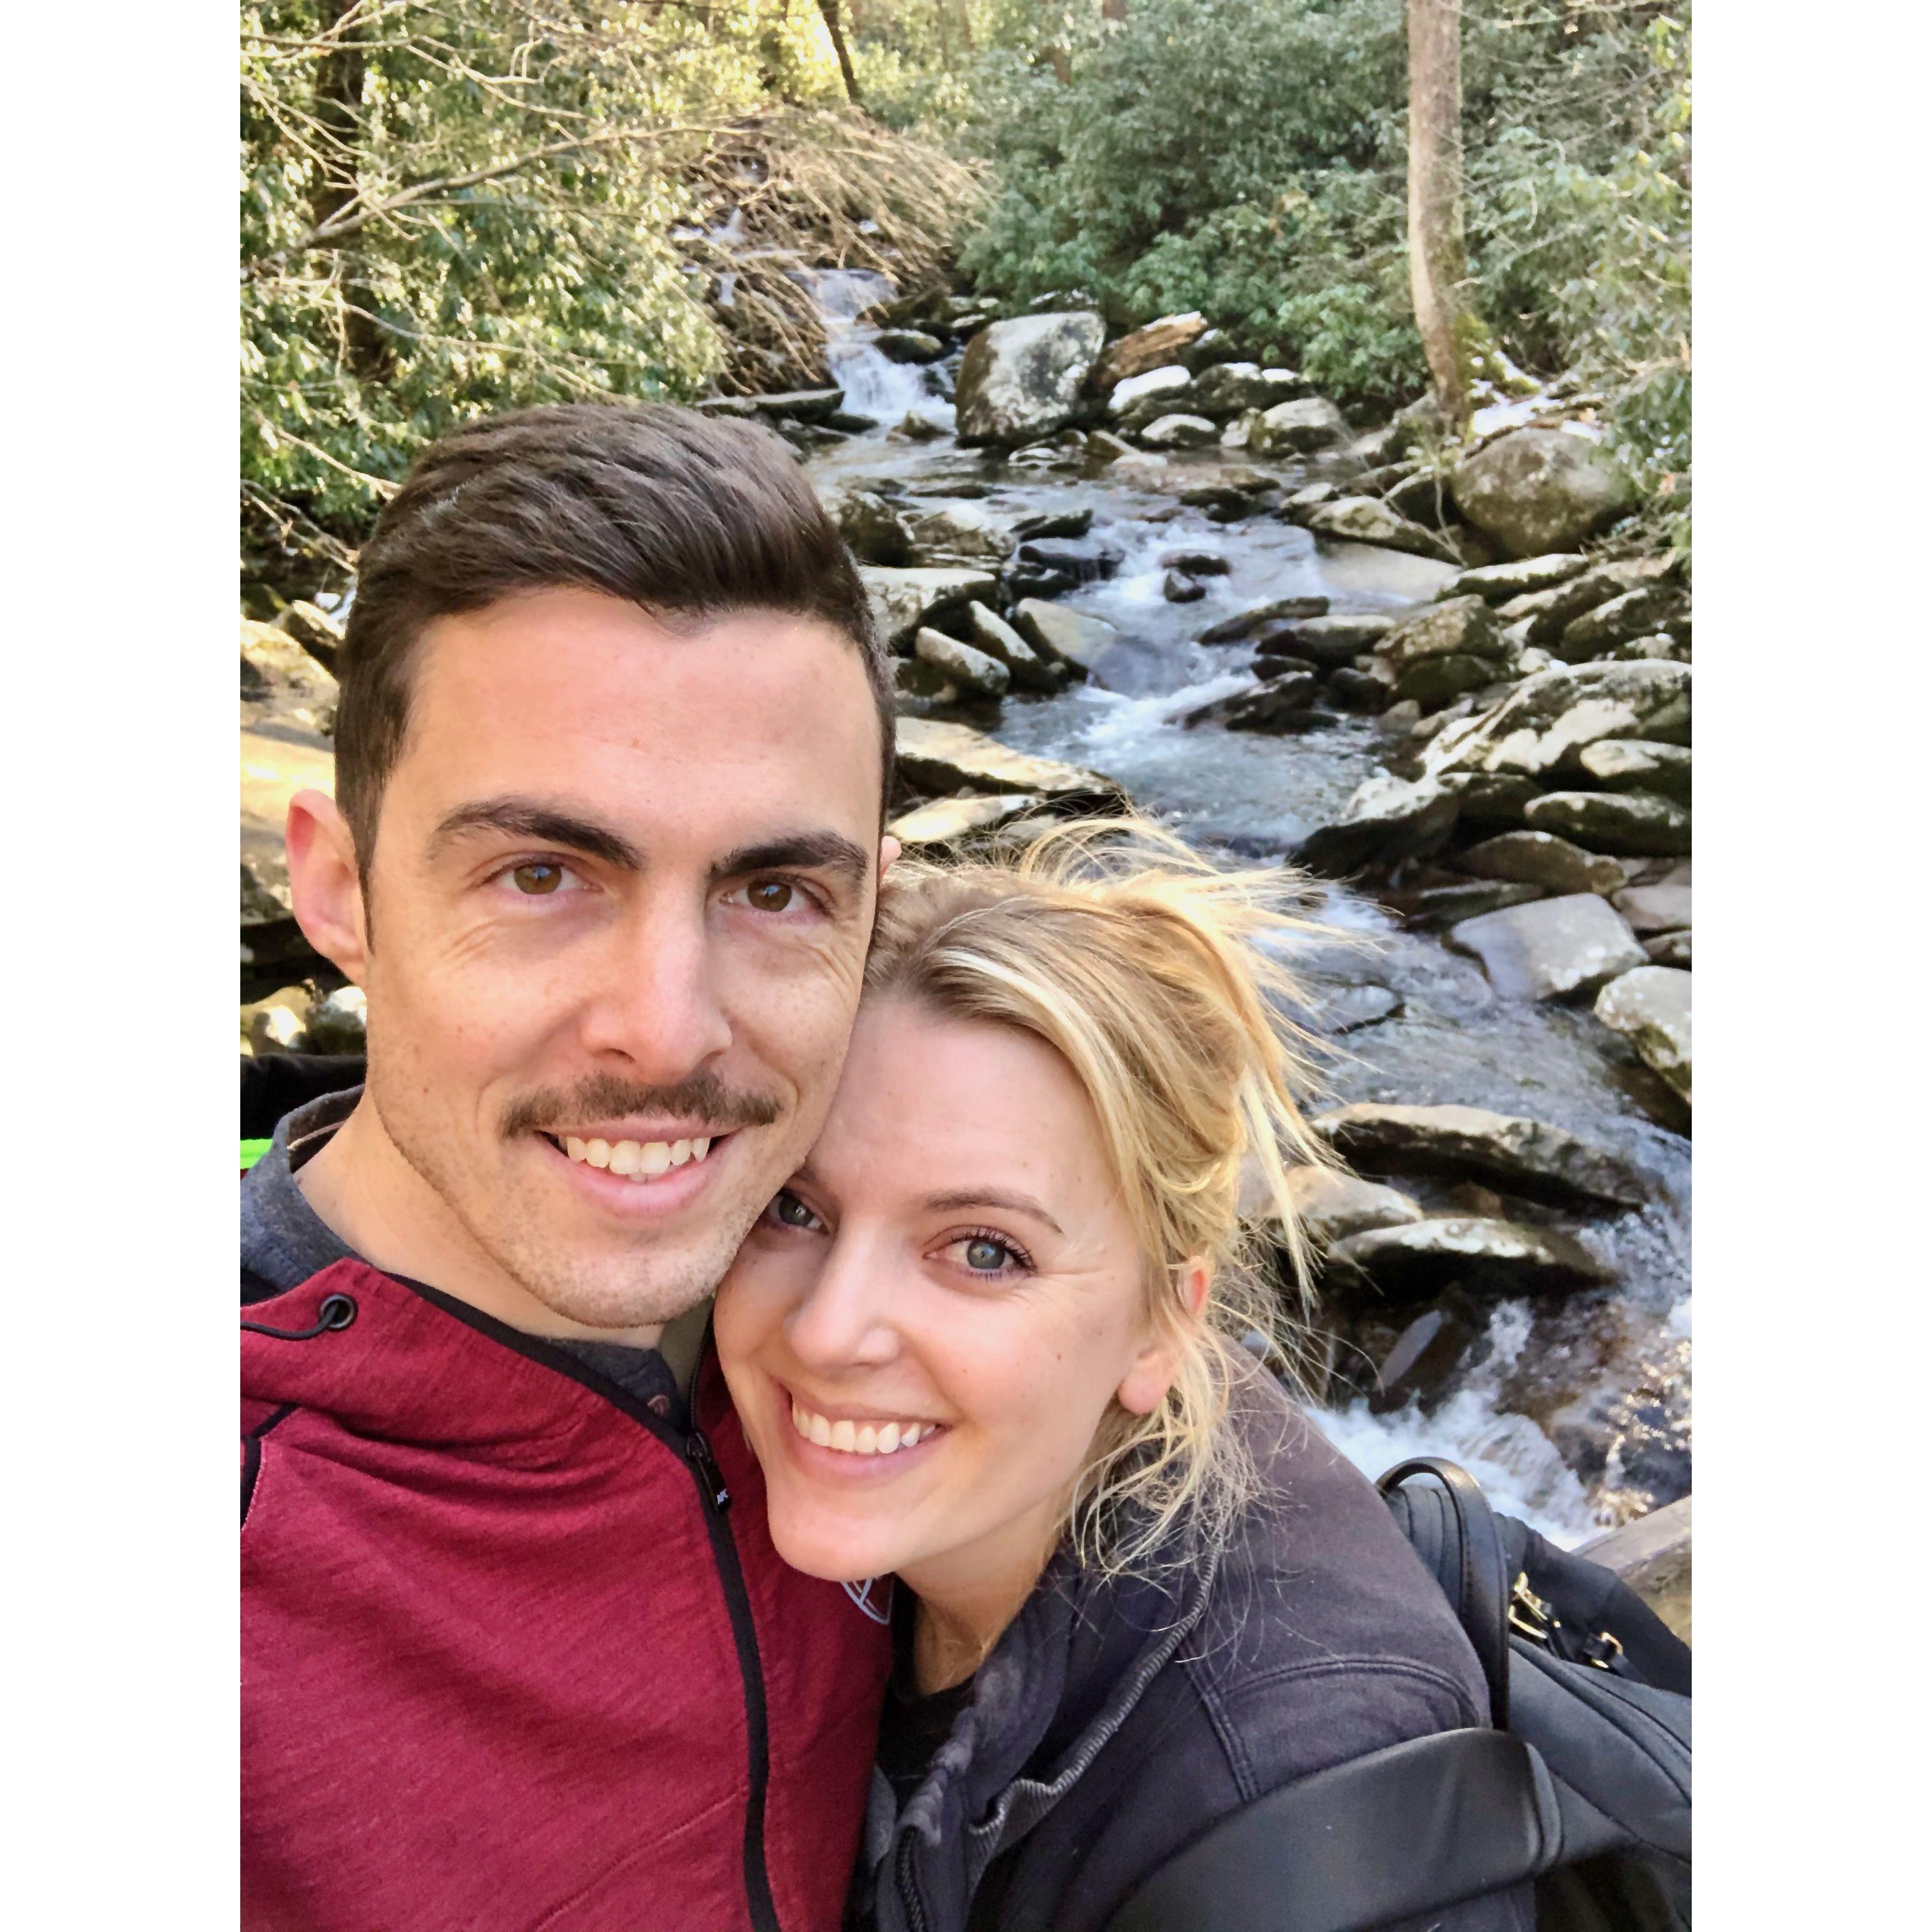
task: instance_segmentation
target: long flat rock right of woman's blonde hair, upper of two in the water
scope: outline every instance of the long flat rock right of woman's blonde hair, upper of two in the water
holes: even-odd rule
[[[1638,1177],[1607,1148],[1486,1107],[1360,1103],[1320,1115],[1312,1126],[1372,1173],[1484,1180],[1559,1206],[1640,1208],[1646,1200]]]

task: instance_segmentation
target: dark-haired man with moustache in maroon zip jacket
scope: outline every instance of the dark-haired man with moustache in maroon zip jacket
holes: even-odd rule
[[[864,589],[769,433],[529,410],[417,462],[340,680],[288,858],[369,1066],[243,1182],[243,1920],[831,1928],[883,1631],[699,1343],[895,852]]]

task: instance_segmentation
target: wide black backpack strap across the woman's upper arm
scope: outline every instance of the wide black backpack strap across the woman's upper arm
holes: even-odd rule
[[[1522,1739],[1437,1731],[1219,1820],[1107,1932],[1364,1932],[1507,1891],[1561,1847],[1555,1787]]]

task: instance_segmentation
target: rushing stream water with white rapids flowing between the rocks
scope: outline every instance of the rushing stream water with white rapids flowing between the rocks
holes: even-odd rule
[[[858,321],[881,284],[840,270],[817,288],[846,408],[883,425],[908,410],[935,417],[923,371],[887,361]],[[1016,750],[1109,773],[1202,846],[1281,858],[1379,769],[1376,726],[1345,721],[1283,738],[1188,730],[1186,711],[1252,682],[1252,647],[1196,639],[1217,618],[1277,597],[1327,597],[1335,612],[1401,609],[1432,597],[1449,570],[1366,545],[1318,547],[1308,531],[1267,516],[1217,524],[1177,504],[1180,489],[1211,481],[1229,462],[1200,450],[1157,468],[1130,458],[1094,469],[1076,456],[1009,460],[951,437],[914,442],[879,429],[821,452],[810,469],[825,493],[891,481],[922,508],[949,497],[1012,516],[1090,508],[1086,541],[1113,545],[1121,564],[1061,601],[1107,618],[1128,645],[1109,655],[1101,680],[1010,697],[985,728]],[[1296,479],[1293,466],[1271,468]],[[1211,553],[1229,570],[1206,578],[1204,599],[1169,603],[1163,558],[1177,551]],[[1513,1217],[1580,1238],[1611,1264],[1617,1285],[1501,1304],[1474,1366],[1434,1414],[1372,1416],[1354,1403],[1325,1418],[1337,1447],[1370,1474],[1405,1455],[1449,1455],[1501,1507],[1565,1546],[1683,1493],[1689,1142],[1644,1113],[1629,1092],[1629,1053],[1588,1014],[1497,999],[1472,960],[1345,887],[1327,889],[1320,918],[1333,937],[1296,962],[1314,993],[1374,983],[1403,1001],[1395,1018],[1335,1043],[1327,1076],[1337,1101],[1455,1101],[1530,1115],[1615,1150],[1652,1194],[1646,1208],[1613,1215],[1511,1204]],[[1403,1186],[1428,1208],[1459,1206],[1439,1184]]]

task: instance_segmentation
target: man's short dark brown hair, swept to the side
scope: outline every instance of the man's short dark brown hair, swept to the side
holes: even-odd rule
[[[891,796],[891,663],[786,444],[672,404],[553,404],[433,442],[363,545],[338,663],[336,802],[365,877],[423,626],[562,587],[665,616],[788,611],[844,632],[879,711],[881,808]]]

